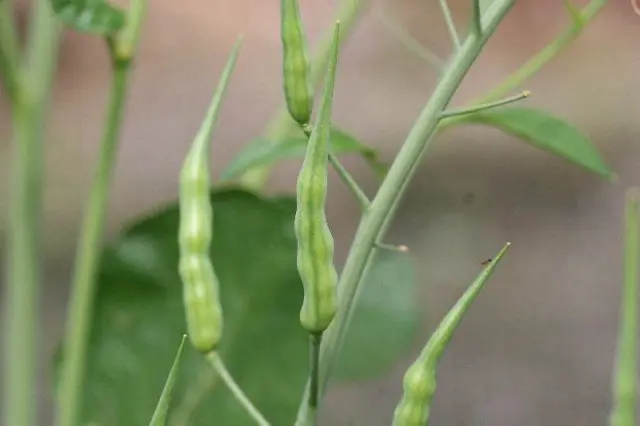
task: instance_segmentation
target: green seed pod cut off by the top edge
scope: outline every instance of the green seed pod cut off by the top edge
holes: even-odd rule
[[[280,20],[287,109],[291,117],[304,127],[311,120],[313,85],[298,0],[281,0]]]

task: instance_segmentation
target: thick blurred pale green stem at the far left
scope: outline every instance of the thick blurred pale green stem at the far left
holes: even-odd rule
[[[9,22],[9,17],[3,17],[3,25]],[[58,26],[47,1],[34,5],[29,22],[24,67],[17,64],[17,48],[5,51],[13,52],[9,53],[12,66],[21,75],[19,86],[15,87],[19,96],[12,99],[14,142],[9,178],[5,299],[7,328],[2,423],[12,426],[36,424],[43,139],[58,52]],[[7,28],[0,36],[4,37],[5,31]],[[13,46],[8,40],[2,43],[3,48]]]

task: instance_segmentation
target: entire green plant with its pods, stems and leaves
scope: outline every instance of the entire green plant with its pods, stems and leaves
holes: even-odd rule
[[[11,105],[15,148],[7,246],[8,327],[3,346],[7,348],[3,392],[7,425],[35,424],[30,398],[35,394],[41,282],[41,145],[58,46],[54,14],[67,27],[102,37],[112,68],[105,130],[56,363],[59,426],[81,422],[315,425],[330,377],[378,374],[415,336],[419,309],[407,267],[410,258],[405,247],[385,244],[384,237],[404,190],[439,131],[470,123],[492,126],[587,171],[614,177],[590,141],[573,126],[546,112],[510,105],[529,96],[527,91],[511,93],[575,39],[604,0],[592,0],[581,10],[566,2],[571,27],[465,108],[450,108],[449,103],[515,0],[471,1],[471,21],[464,35],[458,32],[447,2],[441,1],[453,45],[447,61],[420,46],[383,13],[394,34],[421,52],[439,73],[437,86],[389,165],[331,122],[333,86],[339,77],[338,47],[366,2],[343,0],[338,12],[340,30],[336,25],[310,60],[298,2],[283,0],[286,105],[265,135],[248,144],[221,173],[223,182],[210,188],[209,139],[238,44],[185,159],[179,200],[136,221],[103,248],[109,183],[147,2],[132,0],[125,11],[101,0],[34,1],[24,58],[10,3],[0,2],[0,77]],[[313,92],[323,75],[327,77],[314,123]],[[359,154],[380,177],[371,198],[341,165],[338,157],[348,153]],[[304,157],[296,197],[260,194],[270,167],[291,157]],[[329,165],[362,209],[339,273],[333,266],[333,237],[324,215]],[[628,378],[635,374],[637,204],[637,196],[631,194],[614,426],[631,426],[635,417],[636,390]],[[407,371],[395,426],[427,422],[437,361],[505,251],[506,246],[445,316]],[[386,276],[394,277],[393,288],[372,285]],[[183,348],[183,338],[176,354],[174,339],[184,335],[185,329],[196,351]],[[307,331],[312,335],[309,364],[305,362]],[[372,345],[384,350],[367,352]],[[366,361],[362,359],[365,352]],[[127,367],[136,370],[132,373]],[[218,379],[226,388],[216,386]]]

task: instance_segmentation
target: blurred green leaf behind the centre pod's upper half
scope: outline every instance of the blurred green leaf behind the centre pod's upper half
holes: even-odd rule
[[[243,175],[256,167],[275,164],[278,161],[303,158],[306,152],[307,137],[304,135],[291,137],[279,143],[271,143],[264,139],[257,139],[246,146],[227,166],[221,178],[230,180]],[[379,176],[384,177],[387,166],[379,159],[378,152],[358,142],[349,134],[338,130],[331,130],[331,150],[337,155],[360,155]]]

